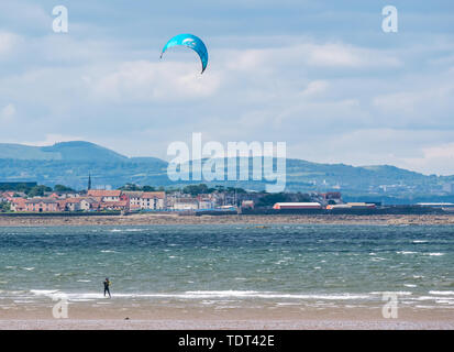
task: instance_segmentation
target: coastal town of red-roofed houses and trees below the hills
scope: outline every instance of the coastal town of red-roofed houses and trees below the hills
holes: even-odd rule
[[[372,209],[376,204],[344,202],[340,193],[267,194],[207,185],[189,185],[164,190],[154,187],[126,185],[120,189],[76,191],[57,185],[54,188],[29,184],[1,184],[0,204],[3,212],[165,212],[224,211],[242,212],[254,209]],[[11,188],[11,189],[5,189]]]

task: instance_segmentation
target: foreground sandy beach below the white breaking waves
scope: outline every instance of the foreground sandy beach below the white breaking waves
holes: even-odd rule
[[[168,308],[153,310],[120,307],[70,307],[67,319],[52,317],[52,307],[13,309],[0,314],[0,330],[229,330],[229,329],[454,329],[452,309],[399,309],[385,319],[379,307],[299,309]]]

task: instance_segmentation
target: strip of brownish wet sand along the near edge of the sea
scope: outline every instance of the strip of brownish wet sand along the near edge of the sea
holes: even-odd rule
[[[317,311],[274,311],[253,312],[233,310],[230,312],[191,315],[190,311],[175,315],[163,312],[134,314],[131,310],[119,310],[110,315],[69,314],[67,319],[44,318],[29,314],[19,314],[0,318],[0,330],[330,330],[330,329],[380,329],[380,330],[453,330],[454,317],[452,312],[440,311],[400,312],[397,319],[385,319],[377,311],[359,310],[324,312]],[[96,310],[95,310],[96,311]]]

